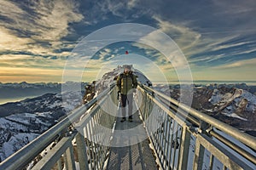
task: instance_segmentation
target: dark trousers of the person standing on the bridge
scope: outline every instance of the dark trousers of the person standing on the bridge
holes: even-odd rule
[[[121,94],[121,108],[122,108],[122,116],[125,117],[125,107],[126,103],[128,104],[128,116],[132,118],[132,100],[133,94]]]

